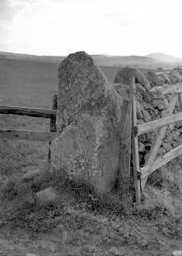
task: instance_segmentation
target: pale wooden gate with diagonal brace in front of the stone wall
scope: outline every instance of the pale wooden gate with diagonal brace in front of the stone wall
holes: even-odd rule
[[[130,99],[130,105],[132,105],[132,114],[128,114],[129,118],[132,116],[132,125],[131,122],[129,122],[129,126],[127,125],[127,130],[132,131],[131,132],[131,148],[132,148],[132,154],[133,154],[133,170],[134,170],[134,183],[135,183],[135,190],[136,190],[136,203],[141,202],[141,193],[142,190],[144,190],[145,183],[148,179],[148,176],[153,173],[158,168],[162,167],[164,164],[167,164],[170,160],[173,160],[175,157],[178,157],[180,154],[182,154],[182,144],[167,154],[164,154],[161,157],[158,157],[155,159],[156,155],[158,154],[158,148],[161,146],[162,139],[164,138],[164,134],[166,129],[168,128],[168,125],[173,124],[174,122],[179,122],[182,120],[182,112],[179,112],[175,115],[173,115],[174,107],[177,103],[177,99],[179,99],[180,102],[180,111],[182,111],[182,85],[173,85],[173,86],[163,86],[163,87],[155,87],[152,89],[152,91],[161,92],[162,94],[170,94],[171,100],[168,105],[168,109],[166,109],[165,117],[157,119],[152,122],[148,122],[142,125],[137,125],[137,119],[136,119],[136,85],[135,85],[135,79],[130,79],[130,92],[129,92],[129,99]],[[128,110],[126,112],[123,112],[123,115],[127,115],[126,113],[129,112],[131,109],[131,106],[128,107]],[[123,107],[124,110],[124,107]],[[144,167],[139,166],[139,145],[138,145],[138,137],[141,134],[148,133],[150,131],[156,131],[155,138],[152,142],[151,149],[148,153],[148,156],[145,160]],[[128,133],[129,135],[129,133]],[[126,137],[123,137],[123,144],[128,145],[129,147],[129,139]],[[128,150],[129,151],[129,150]],[[130,160],[123,158],[123,161],[127,161],[128,165],[128,173],[130,171]]]

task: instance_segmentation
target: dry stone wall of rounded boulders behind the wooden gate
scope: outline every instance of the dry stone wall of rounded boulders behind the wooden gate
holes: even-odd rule
[[[155,88],[156,86],[182,83],[182,69],[175,68],[168,73],[156,74],[152,71],[141,73],[139,70],[125,67],[117,73],[114,83],[127,84],[126,76],[131,73],[136,74],[136,115],[138,125],[167,116],[168,106],[172,96],[168,94],[164,95]],[[177,101],[173,113],[175,114],[177,112],[180,112],[179,101]],[[145,163],[146,156],[154,138],[155,132],[149,132],[139,136],[139,160],[141,165]],[[158,156],[168,153],[168,151],[171,151],[171,149],[177,147],[181,143],[182,122],[169,125],[161,143],[161,147],[158,150]]]

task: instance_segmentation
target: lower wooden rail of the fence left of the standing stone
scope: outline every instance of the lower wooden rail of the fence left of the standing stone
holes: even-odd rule
[[[53,141],[53,138],[55,137],[56,137],[56,132],[0,130],[0,138],[27,140],[27,141]]]

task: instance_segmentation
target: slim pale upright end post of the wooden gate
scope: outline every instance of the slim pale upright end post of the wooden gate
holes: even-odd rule
[[[136,191],[136,203],[141,203],[141,188],[139,174],[139,141],[138,137],[135,135],[134,128],[137,125],[136,118],[136,83],[135,78],[131,79],[130,87],[132,88],[132,105],[133,105],[133,115],[132,115],[132,154],[133,154],[133,173],[134,173],[134,186]]]

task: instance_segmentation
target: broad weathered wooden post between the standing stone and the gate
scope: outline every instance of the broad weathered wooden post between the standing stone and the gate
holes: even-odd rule
[[[129,77],[127,77],[128,79]],[[130,79],[129,79],[130,81]],[[130,82],[129,82],[130,83]],[[131,161],[131,131],[132,131],[132,90],[129,90],[129,101],[123,99],[122,107],[122,138],[120,142],[120,173],[119,188],[126,203],[129,203],[129,175]]]

